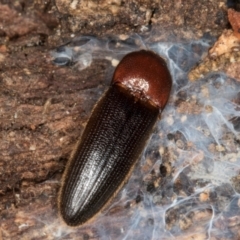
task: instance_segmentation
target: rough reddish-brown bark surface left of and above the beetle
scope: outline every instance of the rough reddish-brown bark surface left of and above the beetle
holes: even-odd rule
[[[51,49],[82,34],[217,37],[226,15],[219,0],[1,0],[0,239],[50,239],[28,216],[57,217],[62,171],[110,81],[107,60],[79,73],[53,65]]]

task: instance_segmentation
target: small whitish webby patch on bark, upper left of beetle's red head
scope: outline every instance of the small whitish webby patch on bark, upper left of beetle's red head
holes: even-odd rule
[[[139,35],[97,39],[93,36],[76,37],[51,51],[54,64],[58,66],[76,65],[81,71],[89,67],[93,59],[111,60],[114,67],[124,54],[146,48]]]

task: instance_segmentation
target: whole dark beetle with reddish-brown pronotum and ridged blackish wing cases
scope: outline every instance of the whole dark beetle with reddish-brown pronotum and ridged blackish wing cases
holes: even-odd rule
[[[68,225],[92,220],[126,183],[171,86],[157,54],[141,50],[121,60],[63,175],[59,211]]]

